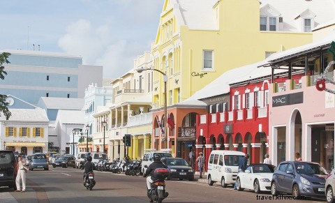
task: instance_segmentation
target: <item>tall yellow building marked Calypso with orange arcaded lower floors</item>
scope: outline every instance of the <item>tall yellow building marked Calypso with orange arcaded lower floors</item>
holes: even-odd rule
[[[315,3],[165,0],[156,40],[151,45],[153,68],[168,76],[165,92],[163,74],[154,71],[153,148],[188,158],[188,152],[195,148],[195,115],[207,110],[179,103],[227,70],[310,43],[311,29],[326,19],[320,3]],[[288,10],[289,4],[294,8]],[[168,128],[167,137],[161,135],[157,122],[165,123],[165,97],[168,116],[175,124]]]

